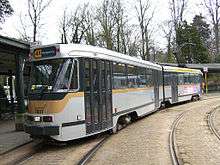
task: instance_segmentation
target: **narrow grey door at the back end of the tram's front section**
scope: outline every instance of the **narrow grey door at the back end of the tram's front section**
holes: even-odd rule
[[[154,100],[155,100],[155,107],[159,107],[159,71],[153,70],[153,81],[154,81]]]

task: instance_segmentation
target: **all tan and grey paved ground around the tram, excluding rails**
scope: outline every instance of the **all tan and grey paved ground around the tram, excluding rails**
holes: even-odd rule
[[[220,164],[220,142],[207,127],[207,113],[220,105],[219,96],[204,96],[202,101],[174,106],[138,120],[111,136],[89,164],[172,164],[168,137],[173,121],[183,111],[187,113],[176,132],[182,162]],[[220,130],[220,109],[215,125]],[[13,123],[0,123],[0,145],[4,144],[1,152],[30,140],[27,134],[13,130]],[[22,164],[75,164],[97,142],[94,137],[67,146],[45,146]]]

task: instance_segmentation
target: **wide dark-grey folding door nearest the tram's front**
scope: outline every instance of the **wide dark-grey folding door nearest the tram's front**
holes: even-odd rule
[[[111,63],[86,59],[84,62],[86,133],[112,127]]]

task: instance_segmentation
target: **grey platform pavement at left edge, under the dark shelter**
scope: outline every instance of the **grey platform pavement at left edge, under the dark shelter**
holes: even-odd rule
[[[15,131],[13,120],[0,122],[0,154],[30,140],[28,134]]]

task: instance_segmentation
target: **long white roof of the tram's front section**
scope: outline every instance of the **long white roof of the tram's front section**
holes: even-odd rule
[[[130,65],[137,65],[142,67],[148,67],[152,69],[162,70],[162,67],[158,64],[139,59],[137,57],[131,57],[122,53],[118,53],[106,48],[100,48],[97,46],[83,45],[83,44],[53,44],[34,47],[33,49],[56,47],[60,50],[60,53],[54,57],[44,58],[68,58],[68,57],[89,57],[96,59],[105,59]],[[33,52],[32,49],[32,52]],[[38,59],[41,60],[41,59]]]

